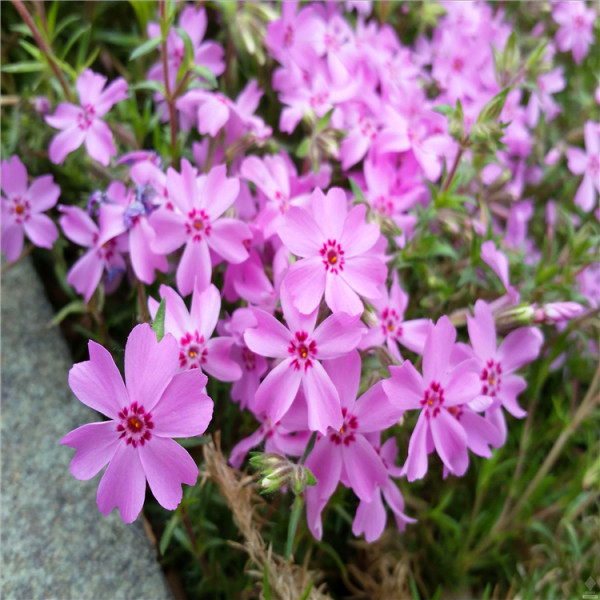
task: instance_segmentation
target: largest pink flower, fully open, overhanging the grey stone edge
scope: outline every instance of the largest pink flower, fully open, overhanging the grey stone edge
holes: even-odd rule
[[[172,438],[202,435],[213,402],[202,392],[206,376],[198,370],[179,373],[177,342],[166,335],[157,342],[147,324],[134,327],[125,347],[125,381],[110,353],[89,342],[90,360],[69,372],[77,398],[110,420],[83,425],[61,444],[75,448],[71,473],[91,479],[106,464],[97,504],[106,516],[117,507],[125,523],[144,504],[146,480],[159,504],[174,510],[181,484],[194,485],[198,467]]]

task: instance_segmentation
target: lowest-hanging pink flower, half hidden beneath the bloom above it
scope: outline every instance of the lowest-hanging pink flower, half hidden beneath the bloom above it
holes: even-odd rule
[[[389,475],[393,477],[398,476],[398,471],[400,471],[400,469],[393,466],[397,453],[398,447],[396,445],[396,439],[393,437],[389,438],[379,449],[379,455],[381,456],[386,469],[388,469]],[[358,508],[356,509],[354,521],[352,522],[352,533],[355,536],[364,533],[365,540],[369,543],[380,538],[385,529],[385,522],[387,519],[385,506],[383,504],[384,499],[394,513],[396,526],[399,531],[404,531],[407,523],[417,522],[416,519],[413,519],[404,513],[404,498],[402,497],[402,493],[394,481],[390,477],[387,477],[386,482],[381,487],[377,488],[373,494],[371,502],[361,499]]]

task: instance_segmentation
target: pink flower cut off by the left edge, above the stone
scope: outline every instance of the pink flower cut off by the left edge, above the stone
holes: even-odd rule
[[[18,156],[2,161],[2,252],[9,262],[17,260],[26,235],[35,246],[52,248],[58,229],[47,215],[60,195],[52,175],[27,185],[27,170]]]

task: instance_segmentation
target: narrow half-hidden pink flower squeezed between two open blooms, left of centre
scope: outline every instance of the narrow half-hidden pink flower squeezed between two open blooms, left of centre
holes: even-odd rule
[[[244,341],[246,330],[255,326],[256,319],[249,308],[238,308],[229,319],[221,320],[217,325],[219,335],[230,336],[234,340],[229,355],[240,366],[242,375],[231,386],[231,399],[239,402],[241,409],[252,403],[260,379],[267,371],[265,358],[252,352]]]

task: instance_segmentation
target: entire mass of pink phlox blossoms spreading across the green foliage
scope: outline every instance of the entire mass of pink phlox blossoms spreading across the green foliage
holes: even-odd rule
[[[85,208],[67,194],[58,207],[63,235],[83,248],[68,284],[88,303],[99,286],[113,292],[133,283],[140,312],[165,334],[158,341],[147,324],[133,329],[126,385],[95,342],[90,360],[69,375],[79,400],[108,418],[62,440],[76,449],[75,477],[108,465],[98,488],[103,514],[118,507],[133,521],[146,481],[167,509],[181,501],[182,483],[194,485],[197,466],[172,438],[206,430],[209,376],[231,383],[230,399],[257,424],[230,440],[231,465],[241,467],[264,443],[269,460],[284,465],[277,482],[301,476],[296,491],[316,538],[340,483],[357,499],[355,535],[381,535],[384,501],[403,529],[414,519],[397,480],[425,477],[434,452],[444,476],[464,475],[470,453],[489,458],[507,440],[505,412],[526,414],[518,397],[526,406],[527,381],[517,371],[542,353],[541,325],[585,314],[584,303],[598,306],[591,254],[578,257],[572,300],[543,297],[514,272],[518,262],[542,264],[546,252],[527,193],[544,173],[531,160],[540,154],[540,123],[563,110],[557,98],[567,82],[555,55],[571,50],[584,59],[595,10],[554,2],[547,26],[552,33],[558,24],[555,39],[521,68],[502,8],[441,4],[432,35],[409,46],[368,18],[369,2],[346,2],[346,12],[342,3],[284,2],[281,15],[258,28],[264,36],[242,36],[275,65],[272,89],[251,78],[235,99],[223,91],[228,83],[211,87],[228,76],[229,59],[205,39],[204,8],[185,6],[168,31],[164,15],[148,25],[148,42],[161,53],[147,71],[155,123],[170,129],[171,146],[160,146],[162,155],[158,147],[127,148],[110,181],[89,190]],[[52,163],[81,158],[81,145],[104,167],[117,155],[103,119],[135,98],[123,78],[106,84],[83,70],[79,105],[59,103],[45,117],[61,130],[48,148]],[[278,102],[275,121],[259,110],[267,91]],[[548,169],[564,156],[569,171],[583,175],[566,201],[579,210],[572,226],[598,215],[599,131],[585,123],[585,150],[579,138],[544,148],[553,153]],[[290,156],[293,135],[305,135],[296,151],[303,161]],[[52,176],[28,186],[13,156],[2,162],[2,190],[7,258],[21,254],[24,234],[52,247],[59,233],[41,214],[60,194]],[[555,205],[544,210],[552,233]],[[452,244],[442,242],[448,233]],[[411,285],[443,288],[420,267],[465,247],[460,266],[446,273],[462,308],[450,293],[437,302],[409,296]],[[408,452],[398,459],[401,436]],[[311,440],[304,467],[273,458],[303,456]]]

